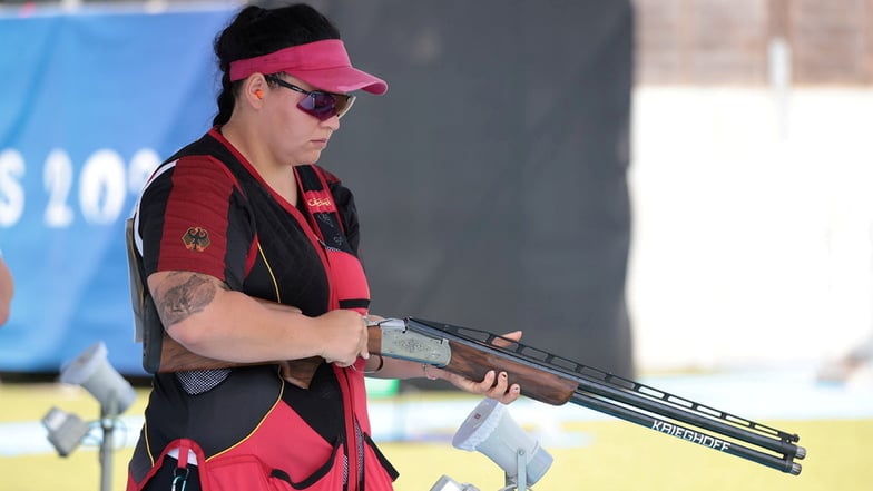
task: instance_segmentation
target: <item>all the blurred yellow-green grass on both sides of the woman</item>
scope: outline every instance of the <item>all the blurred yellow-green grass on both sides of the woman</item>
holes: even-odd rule
[[[145,405],[140,392],[128,414]],[[422,397],[422,395],[418,395]],[[0,385],[0,423],[38,421],[52,406],[82,416],[98,413],[97,403],[78,387],[53,384]],[[619,420],[572,423],[561,430],[586,440],[583,446],[548,448],[555,458],[537,491],[862,491],[873,456],[873,419],[840,421],[762,421],[801,435],[808,451],[801,475],[789,475],[733,455],[689,444]],[[138,431],[139,429],[128,429]],[[0,438],[2,435],[0,434]],[[400,470],[396,491],[428,491],[440,475],[470,482],[481,491],[503,487],[502,471],[478,452],[464,452],[447,441],[381,443]],[[124,490],[130,449],[115,452],[114,489]],[[68,458],[55,454],[0,458],[0,490],[95,491],[100,467],[94,446]]]

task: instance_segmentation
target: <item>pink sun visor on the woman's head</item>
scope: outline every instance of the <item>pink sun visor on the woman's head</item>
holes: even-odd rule
[[[284,71],[320,90],[346,94],[363,89],[382,95],[388,91],[384,80],[352,67],[343,41],[328,39],[292,46],[268,55],[230,62],[230,81],[252,73]]]

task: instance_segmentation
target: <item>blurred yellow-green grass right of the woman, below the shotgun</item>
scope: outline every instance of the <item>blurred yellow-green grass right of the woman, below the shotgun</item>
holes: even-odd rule
[[[772,422],[801,435],[810,455],[801,475],[782,473],[733,455],[621,421],[578,423],[567,431],[591,441],[577,449],[547,449],[555,458],[534,487],[549,490],[609,491],[862,491],[870,490],[866,471],[873,458],[873,420]],[[471,482],[482,491],[502,487],[502,474],[488,458],[450,444],[385,444],[385,454],[401,470],[398,491],[429,490],[442,473]]]

